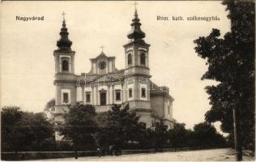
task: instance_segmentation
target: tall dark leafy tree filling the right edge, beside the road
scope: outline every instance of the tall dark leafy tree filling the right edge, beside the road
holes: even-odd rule
[[[207,59],[208,70],[202,79],[214,79],[219,84],[206,87],[211,110],[207,122],[221,122],[221,130],[233,135],[233,111],[239,122],[237,138],[245,148],[254,150],[254,53],[255,12],[253,1],[229,1],[223,4],[229,11],[231,32],[220,38],[220,30],[194,40],[198,56]],[[240,140],[241,139],[241,140]],[[241,146],[240,146],[241,156]],[[241,159],[241,157],[240,157]]]

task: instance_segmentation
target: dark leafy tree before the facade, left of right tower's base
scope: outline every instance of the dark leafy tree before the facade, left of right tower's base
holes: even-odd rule
[[[97,117],[99,130],[96,141],[100,146],[117,145],[124,147],[128,142],[139,140],[139,117],[129,111],[129,104],[122,109],[121,105],[114,104],[112,111],[100,113]]]

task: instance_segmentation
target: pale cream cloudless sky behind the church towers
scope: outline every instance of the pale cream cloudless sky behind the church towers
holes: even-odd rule
[[[212,28],[221,36],[230,30],[228,12],[220,1],[143,1],[137,5],[144,39],[150,44],[151,80],[170,88],[173,117],[192,129],[203,122],[211,109],[207,85],[201,80],[206,61],[195,53],[193,40],[207,36]],[[125,67],[122,45],[128,42],[134,2],[2,2],[0,10],[1,107],[18,105],[21,109],[42,112],[55,96],[53,50],[62,27],[62,12],[75,50],[75,73],[91,70],[90,58],[100,54],[116,57],[117,69]],[[20,21],[16,16],[44,16],[43,21]],[[168,21],[157,16],[169,17]],[[184,20],[173,21],[173,16]],[[189,21],[192,16],[218,16],[216,21]],[[219,126],[220,124],[216,124]]]

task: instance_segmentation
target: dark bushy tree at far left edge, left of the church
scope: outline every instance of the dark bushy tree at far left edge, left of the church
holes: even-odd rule
[[[46,139],[53,139],[53,125],[43,113],[22,112],[19,107],[2,109],[2,148],[7,151],[43,150]]]

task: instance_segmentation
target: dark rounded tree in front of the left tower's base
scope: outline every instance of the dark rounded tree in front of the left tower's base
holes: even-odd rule
[[[77,103],[70,107],[64,116],[65,122],[59,123],[58,131],[64,139],[72,140],[75,149],[79,145],[94,144],[92,134],[96,132],[96,110],[91,104]]]

